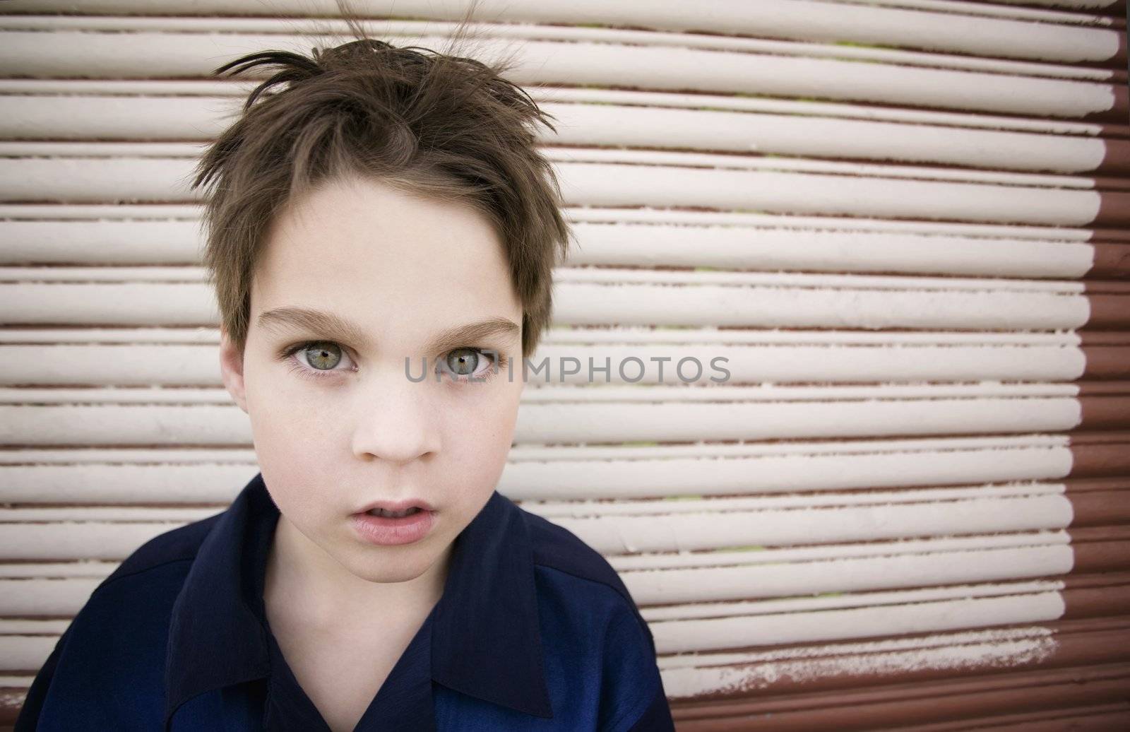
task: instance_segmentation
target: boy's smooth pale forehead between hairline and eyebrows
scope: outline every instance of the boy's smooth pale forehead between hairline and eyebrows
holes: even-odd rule
[[[521,317],[481,213],[371,182],[315,190],[281,212],[255,265],[251,316],[277,308],[336,314],[365,332]]]

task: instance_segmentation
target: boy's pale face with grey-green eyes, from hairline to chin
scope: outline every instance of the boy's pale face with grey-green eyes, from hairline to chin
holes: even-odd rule
[[[356,333],[262,319],[278,308],[329,313]],[[507,321],[514,328],[436,345],[453,329]],[[424,574],[505,465],[523,386],[521,324],[505,253],[481,213],[355,178],[295,201],[257,264],[242,359],[226,332],[220,343],[225,385],[251,418],[280,520],[358,577]],[[501,363],[493,373],[490,354],[466,349],[512,359],[513,380]],[[437,382],[440,361],[458,376]],[[409,498],[434,508],[423,538],[381,544],[358,532],[353,514]]]

